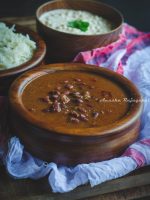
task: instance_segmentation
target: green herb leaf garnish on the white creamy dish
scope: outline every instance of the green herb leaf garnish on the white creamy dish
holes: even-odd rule
[[[86,32],[89,27],[89,22],[85,22],[82,20],[74,20],[68,22],[68,27],[80,29],[83,32]]]

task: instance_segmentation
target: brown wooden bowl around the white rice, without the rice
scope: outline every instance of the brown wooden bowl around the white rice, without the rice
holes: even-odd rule
[[[8,27],[12,27],[14,24],[4,22]],[[22,74],[23,72],[32,69],[38,65],[40,65],[44,59],[44,56],[46,54],[46,45],[45,42],[42,40],[40,36],[38,36],[37,33],[34,31],[31,31],[30,29],[20,26],[20,25],[15,25],[15,29],[17,33],[21,33],[23,35],[28,34],[29,37],[36,42],[37,49],[33,54],[33,57],[16,67],[13,67],[11,69],[6,69],[6,70],[0,70],[0,94],[1,95],[7,95],[9,87],[13,80]],[[17,55],[16,55],[17,56]]]

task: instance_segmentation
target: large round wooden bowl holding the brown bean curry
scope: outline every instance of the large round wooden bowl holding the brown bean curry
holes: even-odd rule
[[[68,71],[105,77],[124,91],[129,100],[137,101],[130,103],[120,119],[104,126],[78,128],[77,125],[76,128],[68,128],[67,122],[60,126],[57,120],[54,126],[46,118],[38,118],[38,114],[30,112],[23,102],[24,91],[28,84],[32,86],[32,81],[39,81],[40,77],[53,73],[60,76],[59,72]],[[48,82],[51,84],[51,79]],[[37,88],[42,91],[39,86]],[[35,96],[35,90],[31,96]],[[143,107],[140,93],[125,77],[105,68],[74,63],[49,64],[26,72],[12,84],[9,101],[12,133],[20,138],[26,150],[45,161],[64,165],[97,162],[120,155],[138,137]]]

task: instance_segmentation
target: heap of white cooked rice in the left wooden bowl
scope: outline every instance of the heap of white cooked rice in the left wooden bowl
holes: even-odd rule
[[[28,35],[15,32],[0,22],[0,70],[17,67],[33,56],[36,43]]]

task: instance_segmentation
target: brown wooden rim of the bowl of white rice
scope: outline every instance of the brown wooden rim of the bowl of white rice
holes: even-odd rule
[[[16,74],[23,73],[24,71],[29,70],[41,63],[46,55],[46,44],[44,40],[38,35],[38,33],[16,23],[12,23],[9,21],[1,22],[5,23],[8,27],[15,26],[16,33],[29,35],[30,39],[32,38],[32,40],[36,43],[37,48],[35,49],[32,58],[26,61],[25,63],[22,63],[21,65],[9,69],[0,70],[0,78],[5,78],[7,76],[14,76]]]

